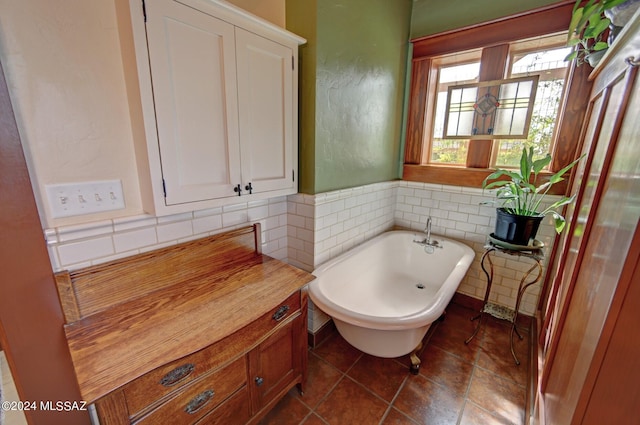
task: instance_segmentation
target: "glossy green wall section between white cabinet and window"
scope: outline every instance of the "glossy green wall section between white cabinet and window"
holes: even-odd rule
[[[300,191],[397,179],[411,0],[287,0],[286,10],[308,41]]]

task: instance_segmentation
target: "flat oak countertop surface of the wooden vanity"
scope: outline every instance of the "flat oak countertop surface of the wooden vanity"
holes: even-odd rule
[[[65,325],[85,401],[223,339],[314,278],[259,252],[225,255],[205,262],[204,274]]]

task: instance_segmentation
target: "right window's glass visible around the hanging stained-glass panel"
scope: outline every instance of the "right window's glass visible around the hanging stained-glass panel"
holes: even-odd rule
[[[564,61],[564,57],[569,50],[558,48],[514,56],[511,77],[539,74],[540,81],[527,140],[500,140],[495,159],[496,166],[519,167],[523,147],[528,149],[533,146],[535,159],[542,158],[551,151],[567,73],[568,63]],[[515,121],[517,119],[514,117]]]

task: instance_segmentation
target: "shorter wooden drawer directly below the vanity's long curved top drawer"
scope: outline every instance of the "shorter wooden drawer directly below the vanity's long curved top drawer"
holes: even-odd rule
[[[245,387],[247,365],[241,357],[177,392],[177,394],[136,425],[192,424],[225,401],[239,388]],[[248,403],[248,400],[247,400]]]

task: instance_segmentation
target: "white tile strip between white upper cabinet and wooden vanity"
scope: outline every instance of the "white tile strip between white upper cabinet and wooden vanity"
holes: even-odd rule
[[[54,271],[76,270],[260,222],[262,251],[287,257],[286,197],[166,217],[140,215],[47,229]]]

